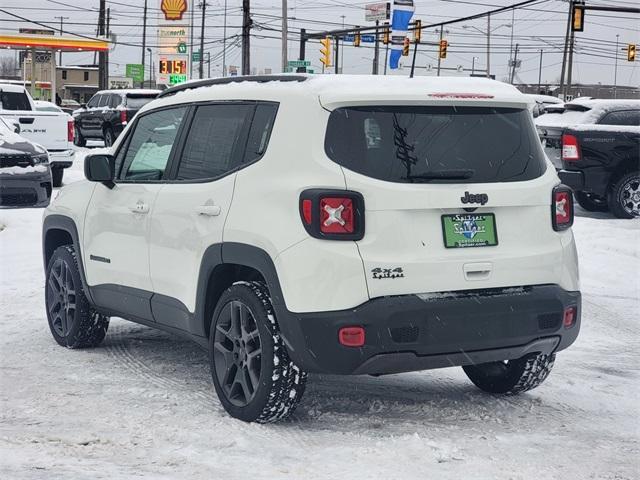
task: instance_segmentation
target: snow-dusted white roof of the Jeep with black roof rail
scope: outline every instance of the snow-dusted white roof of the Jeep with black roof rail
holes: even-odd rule
[[[366,104],[512,105],[533,100],[512,85],[487,78],[399,75],[261,75],[194,81],[165,90],[144,110],[206,100],[318,100],[326,108]]]

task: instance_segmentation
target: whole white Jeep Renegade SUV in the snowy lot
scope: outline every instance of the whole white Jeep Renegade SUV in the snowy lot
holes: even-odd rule
[[[536,387],[581,306],[571,191],[528,102],[442,77],[171,88],[45,213],[51,333],[95,346],[118,316],[186,335],[245,421],[290,415],[306,372]]]

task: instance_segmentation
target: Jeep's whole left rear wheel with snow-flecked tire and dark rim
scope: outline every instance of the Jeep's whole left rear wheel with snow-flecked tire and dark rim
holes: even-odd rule
[[[222,406],[245,422],[284,420],[304,394],[306,373],[289,358],[262,282],[238,282],[222,294],[211,321],[209,360]]]

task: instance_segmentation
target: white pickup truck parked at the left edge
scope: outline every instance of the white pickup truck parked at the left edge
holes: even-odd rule
[[[65,168],[73,163],[73,118],[63,112],[38,111],[29,92],[21,86],[0,82],[0,117],[20,124],[20,135],[49,152],[53,186],[62,185]]]

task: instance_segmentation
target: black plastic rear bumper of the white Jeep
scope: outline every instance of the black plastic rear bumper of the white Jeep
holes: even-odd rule
[[[577,307],[573,327],[562,324]],[[283,311],[280,311],[283,310]],[[398,373],[552,353],[580,330],[580,292],[557,285],[402,295],[351,310],[291,313],[276,306],[292,359],[304,370],[333,374]],[[345,347],[338,330],[365,329],[365,345]]]

